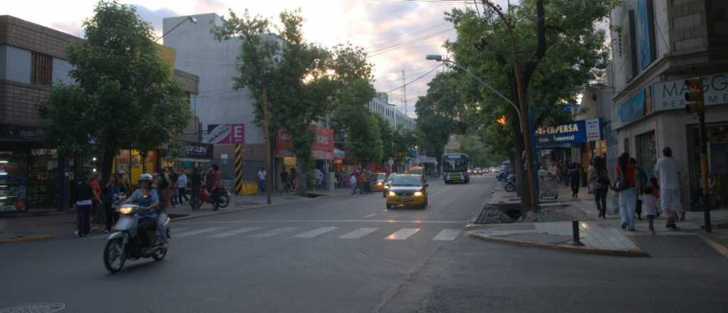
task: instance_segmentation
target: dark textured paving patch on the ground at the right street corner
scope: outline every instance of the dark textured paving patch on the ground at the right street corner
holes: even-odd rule
[[[685,236],[630,236],[638,247],[658,258],[721,258],[711,245],[700,237]]]

